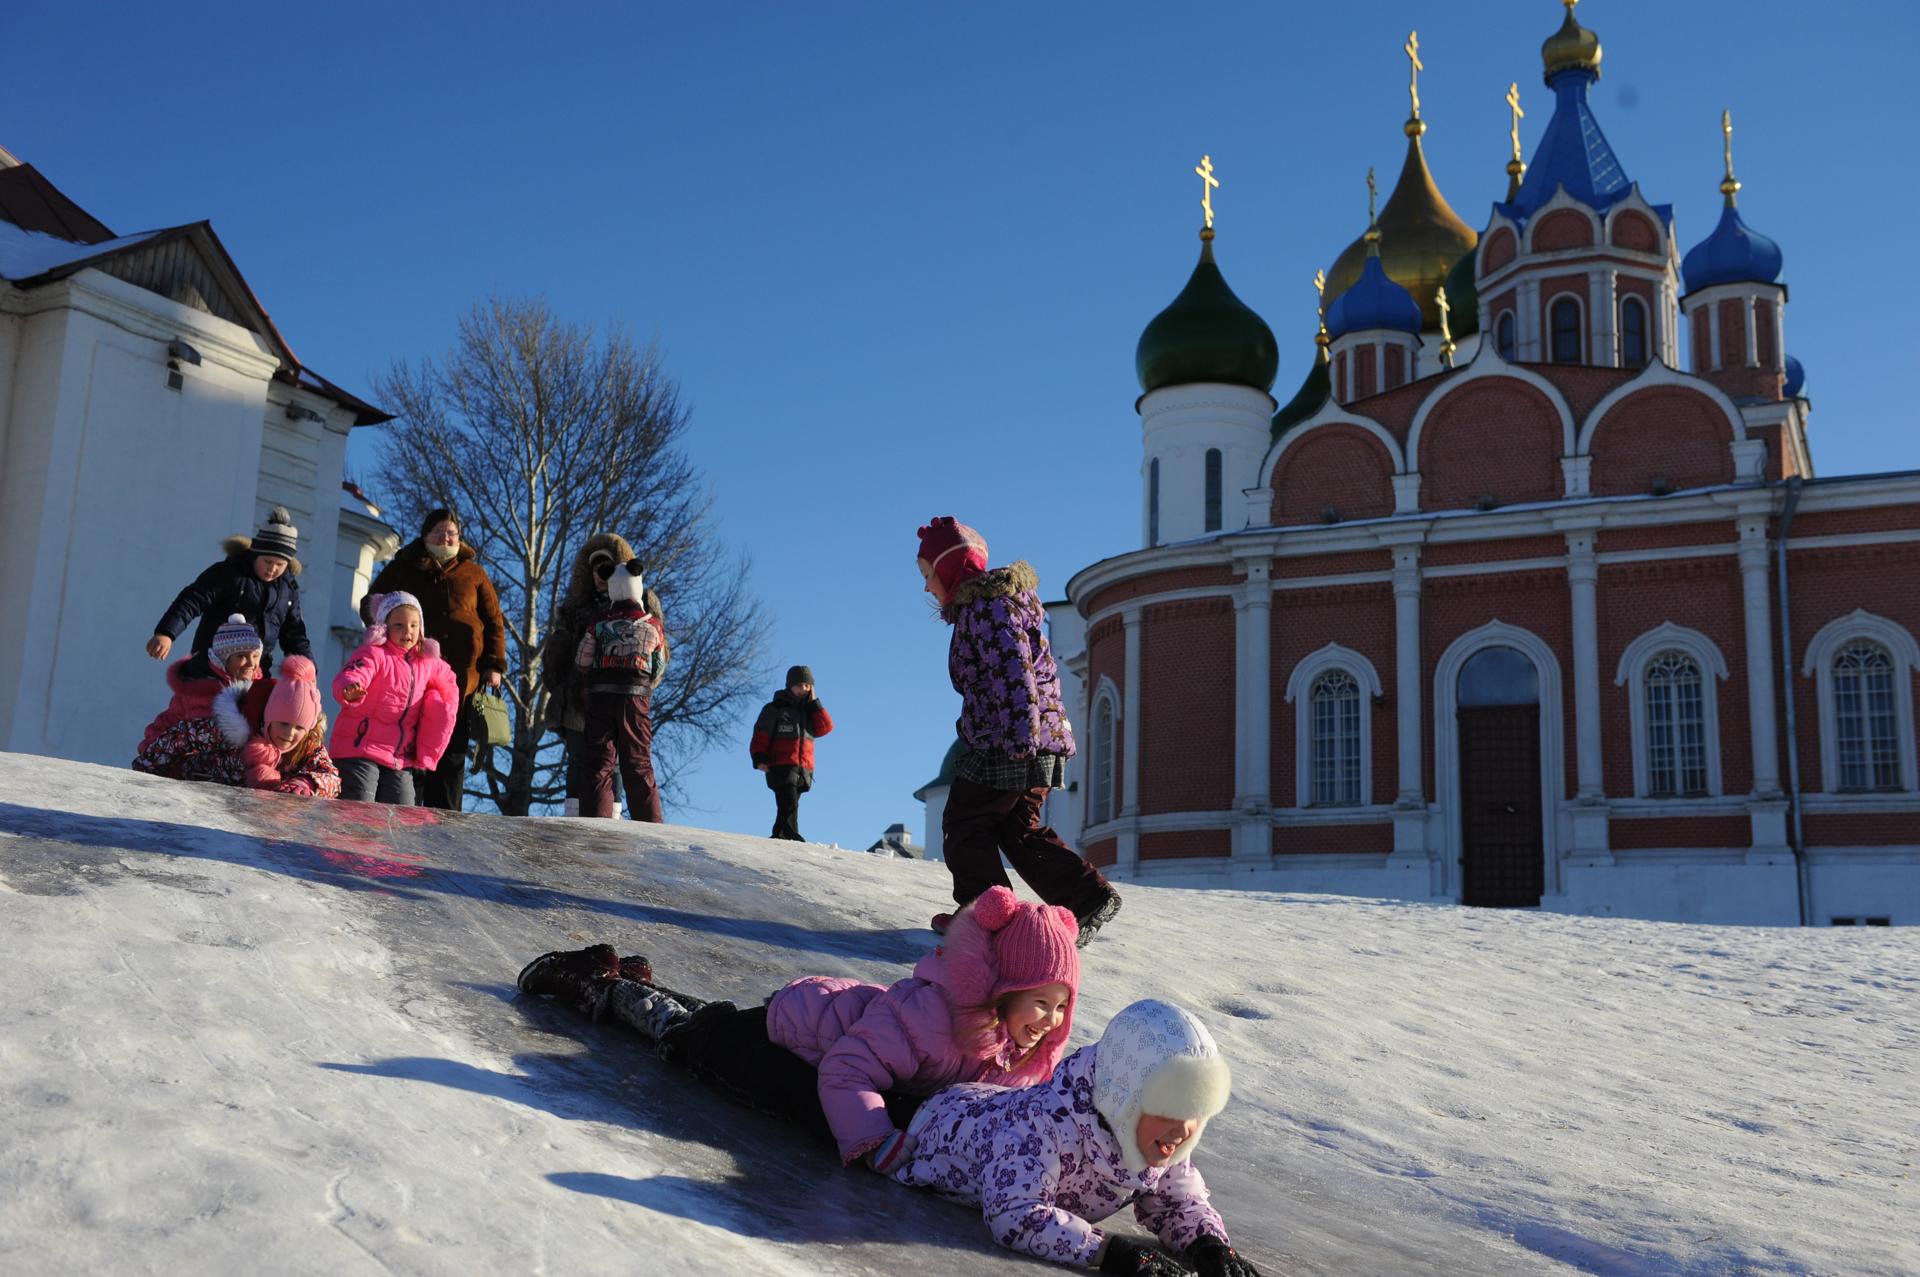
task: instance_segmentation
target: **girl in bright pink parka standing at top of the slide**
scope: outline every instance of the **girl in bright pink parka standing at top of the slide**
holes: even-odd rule
[[[340,722],[330,751],[340,768],[340,797],[355,803],[413,807],[413,770],[440,764],[461,687],[440,643],[424,638],[420,601],[396,590],[372,605],[359,649],[334,676]]]

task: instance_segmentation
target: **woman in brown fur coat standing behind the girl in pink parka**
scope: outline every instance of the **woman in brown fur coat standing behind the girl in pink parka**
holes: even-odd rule
[[[461,686],[461,714],[440,766],[422,772],[420,807],[461,810],[467,793],[467,749],[472,734],[467,697],[486,682],[499,687],[507,676],[507,620],[499,614],[499,595],[472,545],[461,543],[461,518],[436,509],[420,524],[420,536],[394,555],[372,580],[372,593],[405,590],[420,601],[426,638],[438,639],[440,659],[453,666]]]

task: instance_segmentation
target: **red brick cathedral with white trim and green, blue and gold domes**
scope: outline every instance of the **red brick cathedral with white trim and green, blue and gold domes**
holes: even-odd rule
[[[1816,478],[1780,248],[1678,242],[1542,46],[1476,234],[1427,123],[1279,413],[1202,230],[1140,336],[1142,549],[1068,586],[1087,855],[1140,881],[1920,922],[1920,472]]]

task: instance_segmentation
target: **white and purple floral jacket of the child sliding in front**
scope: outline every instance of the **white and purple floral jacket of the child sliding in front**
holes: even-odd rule
[[[1192,1162],[1127,1169],[1092,1104],[1098,1052],[1081,1047],[1037,1087],[947,1087],[914,1116],[893,1179],[979,1206],[996,1242],[1056,1264],[1092,1265],[1106,1241],[1092,1219],[1129,1202],[1175,1254],[1204,1233],[1231,1241]]]

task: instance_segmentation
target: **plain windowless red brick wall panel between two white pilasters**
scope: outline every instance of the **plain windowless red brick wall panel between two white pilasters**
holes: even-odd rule
[[[1233,653],[1231,599],[1160,603],[1140,616],[1142,814],[1233,807]]]

